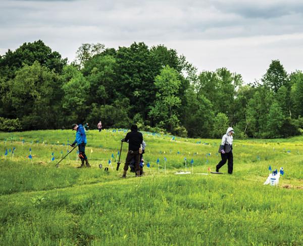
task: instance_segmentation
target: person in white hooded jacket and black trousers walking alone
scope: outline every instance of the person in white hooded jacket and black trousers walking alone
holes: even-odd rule
[[[228,173],[232,174],[233,171],[233,155],[232,155],[232,142],[234,130],[231,127],[228,127],[226,134],[222,137],[222,142],[219,147],[219,153],[221,153],[221,161],[216,166],[216,172],[219,172],[219,169],[225,165],[228,160]]]

